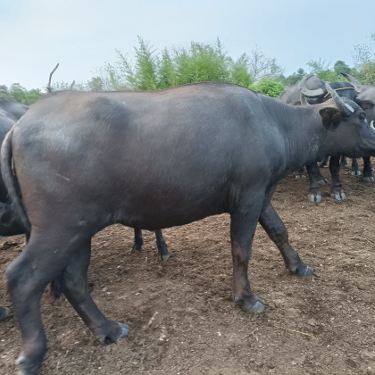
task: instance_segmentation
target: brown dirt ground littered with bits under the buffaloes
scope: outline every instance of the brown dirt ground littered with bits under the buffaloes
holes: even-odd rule
[[[319,205],[306,202],[306,181],[279,184],[272,202],[315,275],[289,275],[258,228],[249,276],[266,304],[259,315],[232,302],[228,215],[165,229],[165,263],[153,233],[145,232],[141,254],[129,254],[132,230],[104,229],[93,239],[92,295],[109,319],[129,323],[129,337],[101,346],[64,298],[50,304],[44,296],[49,349],[41,373],[375,374],[375,185],[349,170],[341,179],[346,201],[323,187]],[[23,237],[0,238],[0,271],[22,246]],[[4,282],[2,302],[11,306]],[[14,374],[21,339],[13,316],[0,332],[0,373]]]

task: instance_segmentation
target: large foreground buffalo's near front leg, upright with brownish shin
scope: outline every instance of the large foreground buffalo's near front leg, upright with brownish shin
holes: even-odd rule
[[[238,210],[237,211],[241,211]],[[251,246],[259,213],[251,215],[242,212],[230,215],[230,241],[233,259],[234,301],[246,312],[262,312],[264,304],[252,293],[247,275],[251,257]]]

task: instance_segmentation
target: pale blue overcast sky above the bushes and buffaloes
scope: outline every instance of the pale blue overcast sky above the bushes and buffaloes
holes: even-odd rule
[[[237,58],[258,46],[289,75],[309,60],[353,65],[370,44],[375,0],[0,0],[0,84],[86,82],[115,49],[131,60],[137,36],[156,51],[221,39]]]

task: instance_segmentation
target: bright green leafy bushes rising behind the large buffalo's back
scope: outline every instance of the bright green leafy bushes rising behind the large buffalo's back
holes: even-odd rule
[[[257,50],[257,61],[247,54],[233,60],[224,51],[218,38],[213,45],[191,42],[188,47],[168,50],[157,54],[154,47],[138,37],[135,61],[116,51],[116,62],[105,63],[95,80],[87,82],[87,88],[120,90],[154,90],[201,81],[231,82],[250,87],[254,82],[251,69],[261,74],[277,71],[274,59],[267,59]]]

